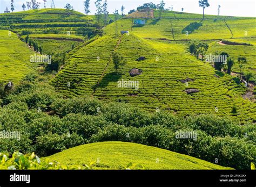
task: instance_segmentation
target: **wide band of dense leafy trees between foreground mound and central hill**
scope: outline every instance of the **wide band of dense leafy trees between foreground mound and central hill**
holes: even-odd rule
[[[182,118],[149,113],[123,103],[75,97],[63,99],[42,77],[26,76],[0,107],[0,131],[21,132],[21,140],[0,139],[3,152],[48,156],[100,141],[125,141],[168,149],[226,167],[250,169],[255,162],[255,125],[213,115]],[[43,78],[44,79],[44,78]],[[176,132],[197,132],[197,140]],[[128,134],[128,135],[127,135]],[[228,154],[227,154],[228,153]]]

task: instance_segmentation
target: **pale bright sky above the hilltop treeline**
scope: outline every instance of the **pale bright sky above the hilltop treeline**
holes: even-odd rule
[[[10,0],[0,0],[0,12],[4,12],[6,6],[10,9]],[[15,11],[22,11],[22,4],[30,0],[14,0]],[[43,0],[37,0],[41,2],[41,8],[43,8]],[[54,0],[57,8],[64,8],[65,4],[70,3],[73,8],[79,12],[83,12],[84,0]],[[91,14],[95,13],[95,2],[91,0]],[[107,0],[109,4],[108,11],[113,12],[114,9],[120,8],[122,5],[125,6],[125,12],[136,9],[137,6],[143,3],[153,2],[158,4],[160,0]],[[198,6],[198,0],[165,0],[165,8],[169,8],[173,5],[174,11],[181,11],[184,8],[185,12],[191,13],[202,13],[203,10]],[[210,7],[206,9],[206,14],[217,15],[218,5],[221,5],[220,15],[223,16],[250,16],[256,17],[256,1],[255,0],[208,0]],[[47,7],[50,8],[51,0],[48,0]]]

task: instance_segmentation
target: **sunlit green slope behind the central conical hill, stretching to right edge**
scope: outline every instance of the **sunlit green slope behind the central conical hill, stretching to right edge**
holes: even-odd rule
[[[253,74],[252,81],[256,81],[256,19],[247,17],[227,17],[227,16],[209,16],[206,15],[201,20],[201,15],[192,13],[181,13],[165,11],[159,19],[158,11],[155,11],[154,18],[146,19],[145,25],[133,24],[133,21],[140,18],[127,18],[117,21],[118,32],[128,30],[140,38],[155,39],[159,41],[169,41],[171,44],[183,44],[187,48],[187,40],[197,39],[213,42],[209,53],[215,51],[226,51],[233,57],[243,55],[247,58],[246,70],[244,74],[250,72]],[[201,26],[194,31],[186,31],[186,26],[191,23],[200,23]],[[107,33],[115,33],[115,25],[106,28]],[[238,43],[251,44],[245,45],[221,45],[219,41],[231,40]],[[239,72],[238,64],[234,65],[234,71]]]

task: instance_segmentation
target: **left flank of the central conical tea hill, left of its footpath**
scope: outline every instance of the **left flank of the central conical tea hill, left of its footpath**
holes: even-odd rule
[[[70,55],[70,63],[53,81],[57,90],[68,95],[91,94],[110,62],[110,55],[117,45],[117,40],[103,37]]]

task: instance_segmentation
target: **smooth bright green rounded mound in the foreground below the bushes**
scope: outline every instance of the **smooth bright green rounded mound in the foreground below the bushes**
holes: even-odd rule
[[[127,142],[91,143],[47,158],[67,165],[98,160],[97,169],[123,169],[130,162],[143,164],[147,169],[231,169],[169,150]]]

